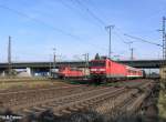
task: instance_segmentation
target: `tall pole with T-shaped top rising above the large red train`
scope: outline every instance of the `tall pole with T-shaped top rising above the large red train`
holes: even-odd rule
[[[107,26],[107,27],[105,27],[105,29],[108,30],[108,33],[110,33],[110,43],[108,43],[108,58],[110,59],[112,58],[112,29],[115,26]]]

